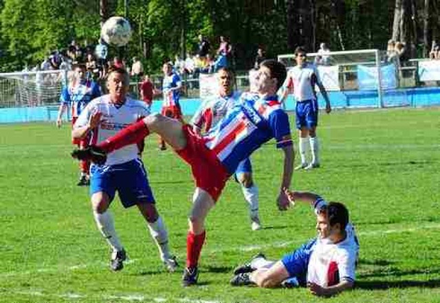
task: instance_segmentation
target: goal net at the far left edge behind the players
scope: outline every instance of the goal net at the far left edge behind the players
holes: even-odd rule
[[[0,73],[0,108],[58,104],[65,70]]]

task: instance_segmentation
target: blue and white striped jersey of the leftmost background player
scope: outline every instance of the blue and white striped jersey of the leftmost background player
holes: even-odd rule
[[[94,98],[101,95],[99,85],[94,81],[72,81],[63,87],[60,96],[60,103],[69,105],[72,111],[72,118],[77,118],[84,107]]]

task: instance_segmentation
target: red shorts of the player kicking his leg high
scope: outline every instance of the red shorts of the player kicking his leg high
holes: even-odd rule
[[[176,152],[191,166],[195,185],[217,201],[230,174],[214,152],[206,147],[203,138],[192,132],[190,125],[184,125],[182,129],[186,136],[186,147]]]

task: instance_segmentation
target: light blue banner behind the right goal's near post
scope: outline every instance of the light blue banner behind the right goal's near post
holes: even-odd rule
[[[384,90],[397,87],[396,67],[388,64],[380,67],[382,79],[381,87]],[[358,65],[359,90],[377,90],[377,67]]]

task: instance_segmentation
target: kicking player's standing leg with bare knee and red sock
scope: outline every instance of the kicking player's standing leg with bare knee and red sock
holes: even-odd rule
[[[205,242],[205,218],[214,206],[214,199],[207,191],[197,187],[192,198],[189,230],[186,238],[186,269],[182,277],[183,286],[197,284],[199,256]]]

